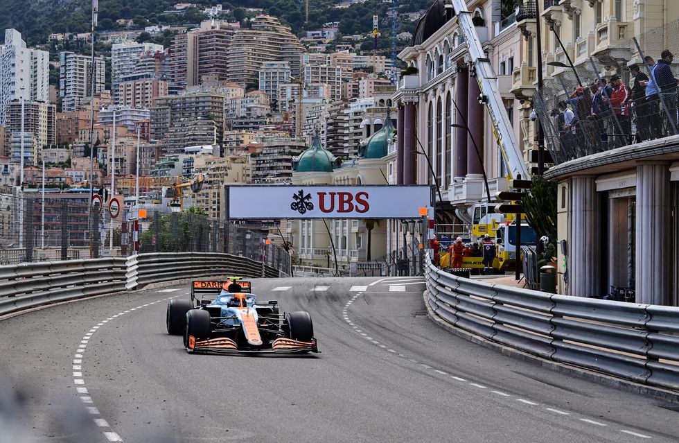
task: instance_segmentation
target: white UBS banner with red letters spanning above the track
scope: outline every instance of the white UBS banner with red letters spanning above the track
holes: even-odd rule
[[[227,218],[419,218],[431,186],[226,186]]]

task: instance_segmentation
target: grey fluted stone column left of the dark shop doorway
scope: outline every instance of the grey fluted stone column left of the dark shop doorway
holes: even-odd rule
[[[601,210],[594,177],[573,177],[570,192],[569,293],[576,297],[600,297]]]

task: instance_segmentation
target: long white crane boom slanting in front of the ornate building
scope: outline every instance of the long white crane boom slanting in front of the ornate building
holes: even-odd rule
[[[500,95],[500,88],[497,86],[497,76],[493,73],[491,60],[486,57],[479,35],[472,23],[472,14],[467,9],[464,0],[450,0],[450,3],[455,9],[457,23],[462,35],[464,35],[464,40],[467,42],[467,51],[474,65],[479,89],[486,96],[486,108],[491,117],[491,123],[493,123],[493,134],[497,139],[497,144],[500,145],[502,157],[504,157],[507,171],[509,171],[509,178],[518,178],[520,174],[522,179],[527,180],[529,177],[528,168],[511,128],[509,116],[502,104],[502,96]],[[470,97],[469,99],[472,100],[473,98]]]

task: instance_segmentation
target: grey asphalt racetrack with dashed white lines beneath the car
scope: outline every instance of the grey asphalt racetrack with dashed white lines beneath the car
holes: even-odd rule
[[[436,327],[423,288],[255,280],[260,301],[310,313],[322,351],[310,356],[187,354],[165,312],[188,286],[2,320],[0,443],[679,441],[679,414],[659,401]]]

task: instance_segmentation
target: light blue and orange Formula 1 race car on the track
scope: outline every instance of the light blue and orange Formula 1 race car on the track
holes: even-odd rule
[[[257,304],[250,289],[249,281],[232,277],[192,281],[191,300],[168,303],[168,333],[183,333],[191,354],[318,352],[308,313],[281,314],[276,300]]]

